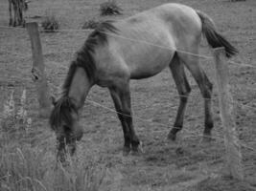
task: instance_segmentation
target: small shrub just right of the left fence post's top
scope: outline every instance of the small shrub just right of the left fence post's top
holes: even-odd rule
[[[57,32],[59,29],[59,23],[54,14],[47,15],[41,23],[44,32]]]

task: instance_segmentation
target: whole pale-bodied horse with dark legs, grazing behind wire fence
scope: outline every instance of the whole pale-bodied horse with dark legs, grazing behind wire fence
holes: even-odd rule
[[[182,129],[191,92],[185,67],[196,79],[204,98],[203,134],[210,137],[214,126],[211,110],[213,85],[199,66],[196,55],[202,34],[212,48],[224,47],[227,57],[237,53],[217,32],[209,16],[173,3],[140,12],[121,21],[102,23],[90,33],[71,62],[61,97],[57,101],[53,100],[55,107],[50,125],[57,135],[59,159],[64,159],[67,151],[71,154],[75,152],[76,140],[82,137],[79,113],[94,85],[106,87],[110,92],[123,127],[124,155],[130,151],[138,152],[140,141],[132,122],[129,80],[151,77],[166,67],[170,68],[174,76],[180,96],[174,128],[168,138],[175,140],[176,133]],[[146,41],[148,43],[143,43]]]

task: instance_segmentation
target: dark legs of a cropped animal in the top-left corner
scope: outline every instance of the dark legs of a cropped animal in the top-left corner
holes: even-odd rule
[[[25,19],[23,18],[23,11],[28,10],[27,0],[8,0],[9,1],[9,26],[24,26]],[[12,19],[12,10],[13,10],[13,19]]]

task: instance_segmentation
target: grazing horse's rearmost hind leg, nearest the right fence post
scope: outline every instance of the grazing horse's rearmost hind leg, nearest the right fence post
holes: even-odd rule
[[[199,66],[198,57],[190,54],[182,53],[182,60],[185,63],[185,66],[191,72],[193,77],[196,79],[198,83],[198,87],[200,89],[201,95],[204,98],[204,138],[210,139],[211,130],[214,126],[213,117],[212,117],[212,108],[211,108],[211,96],[213,84],[210,82],[204,71]]]

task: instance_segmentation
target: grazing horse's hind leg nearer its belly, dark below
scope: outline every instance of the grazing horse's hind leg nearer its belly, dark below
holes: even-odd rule
[[[176,53],[175,53],[175,57],[173,58],[170,64],[170,69],[174,76],[175,85],[180,98],[179,106],[178,106],[178,110],[175,118],[175,125],[168,135],[169,139],[175,140],[176,133],[180,131],[183,126],[183,118],[185,115],[187,100],[188,100],[189,93],[191,92],[191,88],[184,71],[184,65],[179,60]]]

